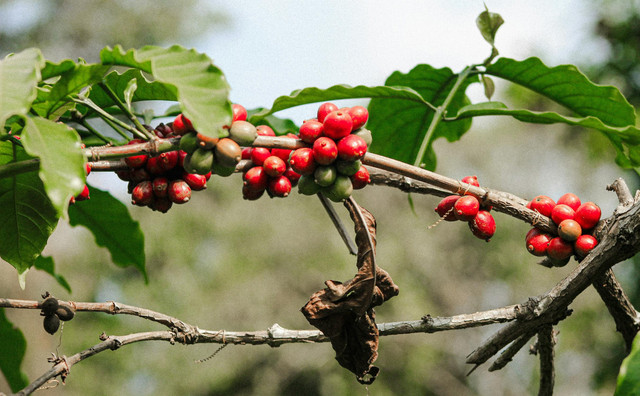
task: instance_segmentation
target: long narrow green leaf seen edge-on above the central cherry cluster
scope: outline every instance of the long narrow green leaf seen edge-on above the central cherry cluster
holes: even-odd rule
[[[420,94],[411,88],[390,86],[366,87],[364,85],[352,87],[342,84],[334,85],[326,89],[314,87],[298,89],[291,92],[290,95],[280,96],[273,102],[273,106],[270,109],[264,109],[257,112],[251,116],[250,121],[255,124],[260,122],[269,114],[303,104],[325,102],[328,100],[358,98],[395,98],[414,101],[428,106],[428,103],[422,99]]]

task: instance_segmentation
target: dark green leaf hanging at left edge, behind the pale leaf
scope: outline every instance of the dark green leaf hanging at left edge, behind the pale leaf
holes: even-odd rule
[[[29,158],[22,148],[0,142],[0,165]],[[0,257],[19,274],[33,265],[57,222],[56,209],[37,173],[0,179]]]

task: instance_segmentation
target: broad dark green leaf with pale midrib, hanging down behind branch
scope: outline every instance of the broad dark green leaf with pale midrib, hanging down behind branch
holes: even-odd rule
[[[456,82],[457,75],[451,69],[435,69],[429,65],[418,65],[409,73],[394,72],[385,82],[389,86],[406,86],[417,91],[422,102],[403,98],[376,98],[369,104],[367,128],[373,133],[371,151],[403,162],[414,163],[419,148],[425,139],[434,111],[431,106],[440,106]],[[447,112],[455,114],[459,108],[470,104],[465,90],[478,78],[467,78],[451,100]],[[427,150],[420,159],[427,169],[435,169],[436,156],[433,142],[444,137],[453,142],[471,127],[470,119],[440,123],[429,137]]]

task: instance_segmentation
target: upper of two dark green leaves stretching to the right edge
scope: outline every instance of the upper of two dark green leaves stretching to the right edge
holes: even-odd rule
[[[573,65],[548,67],[538,58],[500,58],[486,72],[544,95],[578,116],[597,117],[616,127],[636,123],[633,106],[617,88],[594,84]]]

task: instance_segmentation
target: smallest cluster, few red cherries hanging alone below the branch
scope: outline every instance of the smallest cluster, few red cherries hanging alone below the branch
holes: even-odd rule
[[[476,176],[466,176],[463,183],[480,187]],[[496,232],[496,221],[490,206],[484,206],[473,195],[449,195],[443,198],[435,211],[446,221],[466,221],[476,237],[489,241]]]

